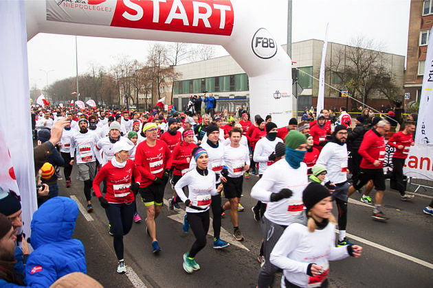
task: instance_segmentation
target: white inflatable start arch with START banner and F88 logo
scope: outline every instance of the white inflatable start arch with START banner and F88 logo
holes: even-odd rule
[[[36,209],[36,191],[32,169],[26,32],[27,40],[43,32],[222,45],[249,76],[251,115],[271,115],[272,120],[282,126],[287,125],[292,112],[291,59],[266,29],[265,20],[271,16],[262,15],[260,8],[263,5],[267,2],[0,1],[0,121],[8,123],[10,117],[28,119],[27,123],[17,119],[19,123],[15,125],[20,127],[1,125],[6,135],[3,143],[9,147],[16,182],[25,199],[23,219],[27,233],[30,232],[28,224],[32,212]]]

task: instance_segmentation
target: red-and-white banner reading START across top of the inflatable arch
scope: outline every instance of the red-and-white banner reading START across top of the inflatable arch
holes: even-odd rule
[[[47,0],[47,20],[230,36],[230,0]]]

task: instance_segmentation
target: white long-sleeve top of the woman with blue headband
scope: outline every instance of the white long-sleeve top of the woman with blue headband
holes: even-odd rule
[[[186,197],[182,188],[188,186],[188,197]],[[208,211],[211,196],[218,195],[215,184],[215,173],[208,169],[208,175],[203,176],[197,172],[197,169],[188,171],[182,178],[177,181],[175,191],[183,202],[189,199],[193,206],[203,208],[204,210],[197,210],[194,208],[186,207],[188,213],[199,213]]]

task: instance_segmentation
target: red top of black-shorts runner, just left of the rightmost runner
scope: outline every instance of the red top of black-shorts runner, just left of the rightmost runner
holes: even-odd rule
[[[380,169],[384,167],[385,158],[385,141],[384,136],[381,136],[375,129],[368,130],[364,134],[361,146],[359,146],[358,153],[362,156],[361,165],[359,167],[364,169]],[[373,165],[375,160],[379,160],[379,166]]]

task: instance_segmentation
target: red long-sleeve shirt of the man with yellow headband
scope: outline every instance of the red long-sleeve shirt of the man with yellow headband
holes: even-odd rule
[[[164,170],[173,165],[173,158],[164,141],[157,140],[153,147],[142,141],[135,149],[135,164],[142,173],[140,187],[148,187],[155,177],[161,178]]]

